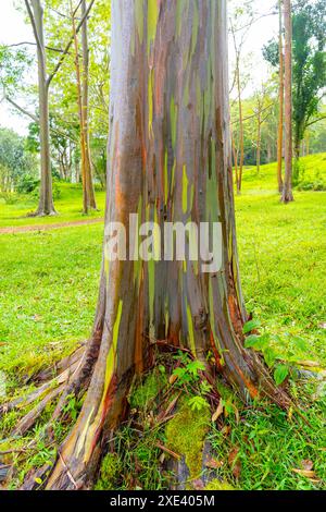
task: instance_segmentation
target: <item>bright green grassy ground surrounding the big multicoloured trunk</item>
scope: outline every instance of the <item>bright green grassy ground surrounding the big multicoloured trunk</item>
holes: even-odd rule
[[[314,169],[316,180],[325,180],[326,155],[305,160],[306,175]],[[296,191],[294,195],[293,204],[279,203],[275,164],[263,166],[259,176],[253,168],[244,170],[243,193],[236,197],[243,292],[248,310],[260,319],[264,332],[277,334],[274,343],[284,358],[313,362],[322,375],[326,367],[326,193]],[[98,200],[95,219],[103,217],[104,193],[98,193]],[[80,204],[80,188],[66,184],[57,200],[60,217],[46,222],[24,217],[35,207],[35,199],[0,203],[0,228],[85,220]],[[103,227],[98,222],[1,235],[0,397],[20,393],[27,375],[87,339],[101,263]],[[131,398],[136,410],[147,411],[139,393],[145,389],[151,400],[148,383],[141,383]],[[326,488],[325,386],[321,380],[292,381],[291,389],[303,401],[310,425],[273,406],[243,407],[222,388],[229,413],[223,429],[211,426],[208,434],[218,478],[241,489]],[[71,404],[72,416],[78,406]],[[20,414],[9,413],[1,419],[4,438]],[[40,429],[38,425],[29,432],[24,446]],[[120,432],[120,463],[130,475],[138,472],[137,486],[160,489],[166,487],[167,477],[159,471],[162,451],[158,442],[168,443],[168,432],[161,429],[153,436],[152,427],[149,431],[137,441],[129,425]],[[5,443],[0,441],[0,454]],[[51,449],[40,438],[37,452],[30,454],[11,487],[50,455]],[[128,487],[126,481],[128,478],[116,486]]]

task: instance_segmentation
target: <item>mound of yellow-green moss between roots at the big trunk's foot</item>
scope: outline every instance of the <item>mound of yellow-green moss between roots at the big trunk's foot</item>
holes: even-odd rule
[[[184,404],[166,425],[167,448],[185,456],[192,479],[202,470],[202,451],[209,425],[210,411],[191,411],[188,404]]]

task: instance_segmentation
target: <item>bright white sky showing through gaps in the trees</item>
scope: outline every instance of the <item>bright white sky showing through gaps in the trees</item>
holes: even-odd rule
[[[2,45],[33,41],[32,28],[24,23],[24,14],[15,9],[15,4],[23,5],[24,0],[1,0],[0,44]],[[260,15],[269,12],[274,5],[275,0],[255,0],[255,10]],[[266,16],[255,22],[249,32],[243,48],[243,54],[250,54],[251,81],[244,96],[250,95],[254,88],[258,88],[262,78],[266,76],[267,64],[263,61],[261,50],[262,47],[277,34],[277,16]],[[234,56],[231,45],[229,54],[231,61]],[[24,98],[20,98],[20,101],[24,103]],[[4,101],[0,102],[0,126],[11,127],[21,135],[26,135],[28,124],[28,119],[15,113]]]

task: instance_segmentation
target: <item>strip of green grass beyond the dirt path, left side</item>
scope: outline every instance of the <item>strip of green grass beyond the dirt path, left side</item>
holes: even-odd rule
[[[96,192],[99,211],[91,211],[86,217],[82,214],[82,185],[59,183],[55,184],[55,188],[60,194],[59,198],[54,200],[59,215],[53,217],[27,217],[37,208],[37,199],[30,195],[21,195],[11,205],[5,204],[4,199],[0,198],[0,228],[73,222],[104,216],[105,192]]]

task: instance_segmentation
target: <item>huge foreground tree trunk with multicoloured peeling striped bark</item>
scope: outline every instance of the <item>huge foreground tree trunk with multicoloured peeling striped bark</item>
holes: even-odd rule
[[[226,1],[113,0],[106,223],[222,222],[223,270],[183,261],[103,259],[91,382],[61,447],[49,489],[91,481],[100,442],[124,412],[148,340],[216,364],[243,397],[286,406],[259,357],[244,351],[228,112]],[[64,461],[64,464],[63,462]]]

